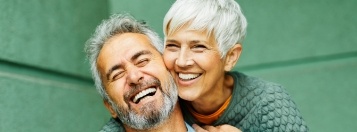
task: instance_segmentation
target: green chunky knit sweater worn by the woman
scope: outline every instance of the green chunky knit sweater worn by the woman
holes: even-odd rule
[[[294,101],[280,85],[239,72],[228,74],[234,78],[232,99],[213,126],[230,124],[244,132],[308,131]],[[199,124],[184,101],[180,103],[185,121]]]

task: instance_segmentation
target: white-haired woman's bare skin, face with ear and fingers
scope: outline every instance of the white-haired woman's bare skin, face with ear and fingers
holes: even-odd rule
[[[186,100],[196,112],[209,115],[232,94],[234,80],[225,72],[234,67],[242,47],[236,44],[221,58],[213,35],[187,27],[184,25],[166,36],[164,62],[178,85],[180,98]],[[192,74],[195,78],[185,80],[180,74]],[[216,129],[236,129],[227,126]]]

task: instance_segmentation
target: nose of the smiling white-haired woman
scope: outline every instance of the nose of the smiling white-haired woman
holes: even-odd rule
[[[194,61],[192,59],[192,54],[186,49],[181,49],[179,56],[176,59],[176,65],[179,67],[192,66]]]

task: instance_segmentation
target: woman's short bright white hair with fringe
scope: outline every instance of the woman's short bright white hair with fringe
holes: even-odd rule
[[[176,0],[164,18],[165,39],[185,24],[190,30],[213,35],[222,58],[235,44],[242,44],[247,28],[247,20],[234,0]]]

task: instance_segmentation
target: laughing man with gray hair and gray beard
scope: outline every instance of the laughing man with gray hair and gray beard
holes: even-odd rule
[[[127,14],[103,21],[86,52],[96,88],[113,119],[102,131],[192,131],[177,87],[166,70],[163,44],[145,24]]]

